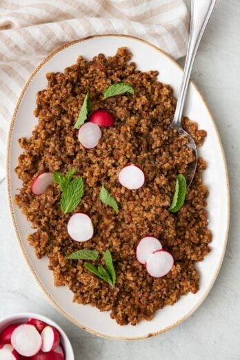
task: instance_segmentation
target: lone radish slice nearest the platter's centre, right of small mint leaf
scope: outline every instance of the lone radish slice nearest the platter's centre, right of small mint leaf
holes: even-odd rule
[[[143,170],[136,165],[125,166],[119,172],[119,183],[130,190],[141,188],[141,186],[145,183]]]

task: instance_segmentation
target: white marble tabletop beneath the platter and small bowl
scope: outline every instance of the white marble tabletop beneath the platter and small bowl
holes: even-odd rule
[[[187,1],[188,4],[190,0]],[[226,151],[232,214],[226,257],[203,305],[185,323],[143,341],[94,337],[55,310],[23,260],[12,230],[6,184],[0,184],[0,317],[39,312],[66,329],[76,360],[239,360],[240,359],[240,2],[218,0],[199,48],[192,78],[206,97]],[[183,63],[183,61],[180,61]],[[221,196],[221,194],[219,194]]]

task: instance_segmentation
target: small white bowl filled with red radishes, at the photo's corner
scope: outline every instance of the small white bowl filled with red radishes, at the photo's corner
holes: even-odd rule
[[[42,315],[23,312],[0,319],[0,360],[74,360],[66,333]]]

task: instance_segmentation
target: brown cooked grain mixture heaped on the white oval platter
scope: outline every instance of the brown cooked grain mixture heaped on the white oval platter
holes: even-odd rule
[[[208,189],[201,180],[206,168],[203,159],[199,159],[184,206],[176,214],[168,210],[177,174],[186,172],[194,154],[184,145],[186,139],[169,127],[176,105],[172,88],[157,81],[157,71],[137,70],[135,63],[129,63],[131,56],[126,48],[119,48],[114,57],[99,54],[92,61],[79,57],[63,73],[48,73],[47,88],[37,94],[34,114],[39,123],[30,139],[19,140],[25,151],[16,168],[23,187],[15,200],[37,229],[28,241],[37,257],[48,256],[55,285],[68,286],[78,303],[110,310],[112,319],[121,325],[150,320],[156,310],[173,305],[182,294],[197,292],[199,273],[194,263],[208,254],[212,238],[206,212]],[[103,90],[122,81],[132,84],[135,96],[103,100]],[[92,150],[81,146],[73,127],[88,90],[92,111],[105,109],[115,118],[114,126],[101,128],[101,140]],[[206,131],[186,118],[184,125],[201,146]],[[123,188],[118,181],[119,170],[128,163],[139,165],[146,174],[139,190]],[[39,196],[31,191],[37,174],[66,174],[72,168],[77,168],[76,175],[85,183],[76,211],[87,212],[94,225],[94,236],[84,243],[68,236],[71,214],[59,208],[61,191],[56,183]],[[119,214],[99,200],[101,183],[117,199]],[[150,277],[136,259],[137,243],[147,235],[157,237],[173,254],[174,266],[163,278]],[[82,248],[101,255],[110,249],[117,272],[114,288],[88,272],[84,261],[65,259]]]

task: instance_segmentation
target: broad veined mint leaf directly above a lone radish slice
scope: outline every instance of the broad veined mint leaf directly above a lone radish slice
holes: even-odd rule
[[[81,177],[75,177],[63,191],[61,197],[61,210],[65,213],[72,212],[77,208],[83,197],[84,183]]]

